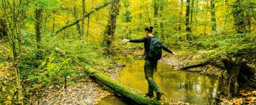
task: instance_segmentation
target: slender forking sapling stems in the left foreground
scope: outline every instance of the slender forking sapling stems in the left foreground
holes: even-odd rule
[[[7,4],[8,3],[8,4]],[[22,85],[20,84],[20,59],[22,55],[22,43],[21,43],[21,21],[22,21],[22,9],[19,0],[18,4],[13,3],[10,5],[9,1],[3,1],[3,13],[4,19],[8,22],[8,27],[6,27],[7,34],[10,38],[10,45],[12,46],[13,53],[13,69],[15,71],[15,80],[17,88],[17,99],[16,104],[23,104],[22,101]],[[18,45],[18,46],[17,46]]]

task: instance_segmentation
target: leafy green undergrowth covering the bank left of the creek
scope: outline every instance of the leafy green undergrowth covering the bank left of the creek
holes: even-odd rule
[[[111,60],[99,45],[81,40],[78,35],[44,35],[42,43],[36,43],[35,34],[22,31],[22,57],[20,78],[24,104],[29,99],[42,97],[42,93],[52,88],[64,88],[88,80],[81,62],[106,73],[113,68]],[[35,38],[35,39],[34,39]],[[12,103],[17,97],[15,78],[12,68],[12,50],[8,43],[0,45],[0,96],[6,99],[0,102]],[[68,87],[67,87],[68,88]]]

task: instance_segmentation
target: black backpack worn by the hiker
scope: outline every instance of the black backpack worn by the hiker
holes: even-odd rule
[[[152,38],[150,36],[148,36],[148,38],[150,39],[150,48],[148,52],[149,59],[152,59],[152,60],[161,59],[162,48],[163,48],[161,41],[157,38]]]

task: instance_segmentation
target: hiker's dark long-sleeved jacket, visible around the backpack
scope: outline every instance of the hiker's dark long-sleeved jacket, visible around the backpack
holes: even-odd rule
[[[147,59],[149,48],[150,48],[150,39],[148,37],[151,37],[151,36],[145,36],[144,38],[141,38],[141,39],[130,39],[129,41],[132,43],[144,43],[144,59]],[[155,38],[155,37],[152,37],[152,38]],[[172,51],[166,48],[164,45],[163,45],[163,50],[166,52],[172,53]]]

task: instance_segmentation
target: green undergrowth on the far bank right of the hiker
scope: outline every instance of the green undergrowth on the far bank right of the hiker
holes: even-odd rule
[[[169,38],[166,44],[176,50],[200,55],[203,59],[216,59],[221,55],[241,57],[248,61],[256,59],[256,34],[209,34],[194,36],[191,41],[180,39],[179,34]],[[202,59],[200,58],[200,59]]]

